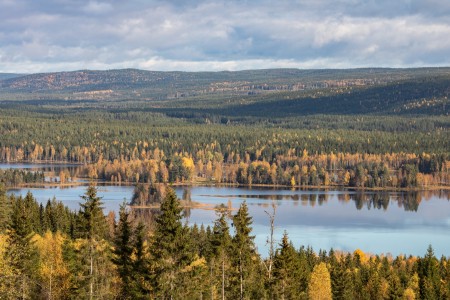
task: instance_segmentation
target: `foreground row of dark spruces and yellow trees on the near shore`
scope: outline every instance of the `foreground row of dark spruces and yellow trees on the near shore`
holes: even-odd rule
[[[118,222],[90,186],[78,212],[0,188],[0,295],[5,299],[447,299],[449,258],[318,253],[284,234],[262,257],[244,203],[212,227],[183,224],[167,188],[149,230],[125,204]],[[48,216],[48,217],[45,217]],[[54,220],[54,221],[51,221]],[[230,223],[233,230],[230,229]]]

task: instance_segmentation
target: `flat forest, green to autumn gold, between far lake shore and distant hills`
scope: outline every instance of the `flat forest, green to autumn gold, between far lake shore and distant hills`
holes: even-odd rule
[[[148,103],[93,102],[82,111],[77,105],[50,101],[2,111],[0,161],[87,164],[86,176],[114,182],[403,188],[449,182],[445,116],[220,116],[212,124],[203,115],[146,111]]]

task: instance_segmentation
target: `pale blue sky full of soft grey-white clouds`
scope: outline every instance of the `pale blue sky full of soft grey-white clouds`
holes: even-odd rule
[[[0,0],[0,72],[450,66],[449,0]]]

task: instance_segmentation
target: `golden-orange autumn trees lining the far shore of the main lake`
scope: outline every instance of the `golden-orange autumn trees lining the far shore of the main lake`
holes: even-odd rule
[[[290,149],[271,163],[264,160],[265,146],[244,157],[198,151],[165,157],[147,152],[133,160],[99,160],[85,168],[86,176],[112,182],[168,183],[216,182],[292,187],[342,186],[367,188],[427,188],[450,182],[447,155],[415,154],[308,154]]]

